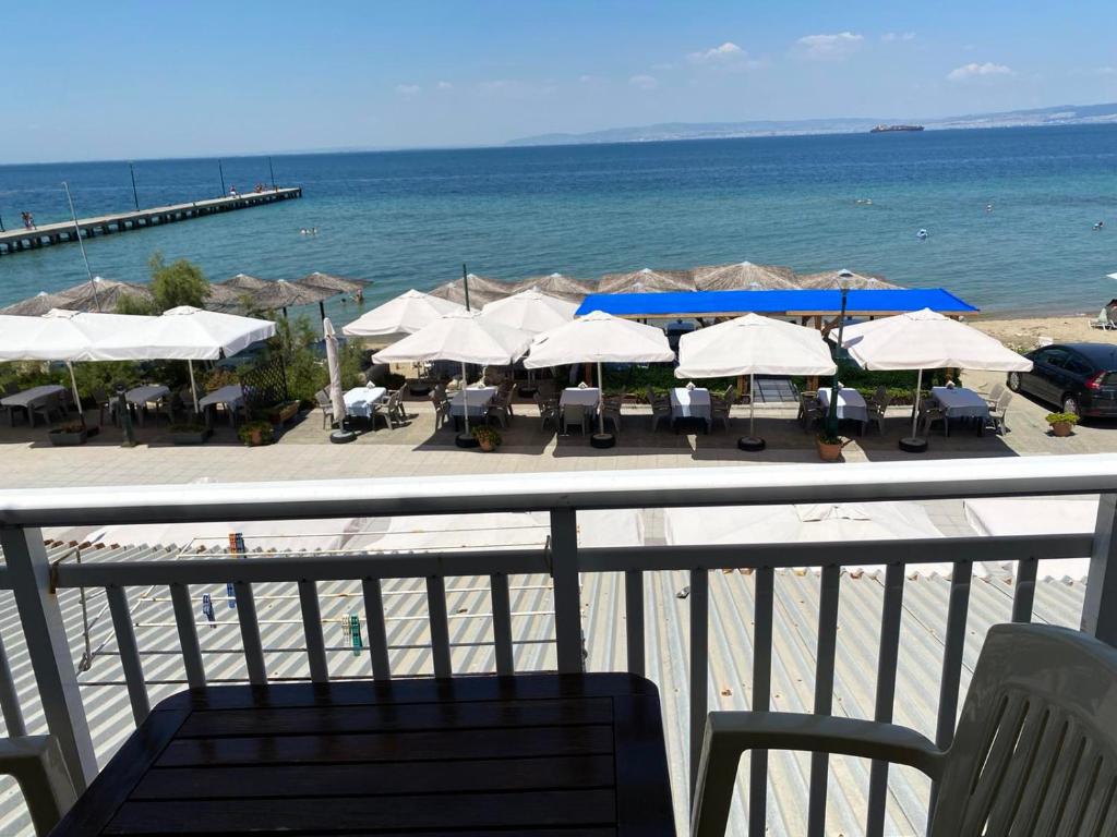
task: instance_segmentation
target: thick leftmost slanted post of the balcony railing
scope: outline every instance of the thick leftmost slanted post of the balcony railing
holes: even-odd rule
[[[97,757],[66,641],[66,625],[50,584],[50,562],[42,545],[42,532],[0,527],[0,548],[19,606],[19,619],[47,727],[61,747],[78,791],[85,790],[97,775]]]

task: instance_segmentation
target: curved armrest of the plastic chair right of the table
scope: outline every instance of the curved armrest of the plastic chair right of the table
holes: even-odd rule
[[[945,754],[906,727],[791,712],[710,712],[706,719],[691,837],[722,837],[737,766],[748,750],[800,750],[907,764],[938,779]]]

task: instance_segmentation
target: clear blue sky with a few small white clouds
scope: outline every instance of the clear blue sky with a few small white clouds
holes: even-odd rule
[[[1117,3],[9,3],[0,164],[1117,102]]]

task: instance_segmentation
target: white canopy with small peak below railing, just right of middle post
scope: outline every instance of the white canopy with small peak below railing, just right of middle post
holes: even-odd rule
[[[663,509],[663,536],[670,546],[705,546],[942,538],[943,532],[919,503],[870,502]],[[949,566],[948,560],[909,565],[907,571]]]

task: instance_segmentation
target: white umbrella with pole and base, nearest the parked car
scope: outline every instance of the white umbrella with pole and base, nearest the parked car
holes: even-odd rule
[[[837,335],[831,331],[831,339]],[[842,345],[866,369],[918,369],[911,437],[915,443],[919,415],[919,391],[924,369],[960,368],[991,372],[1028,372],[1032,362],[1003,346],[984,331],[924,308],[895,317],[848,326]]]

